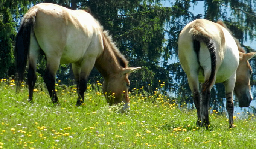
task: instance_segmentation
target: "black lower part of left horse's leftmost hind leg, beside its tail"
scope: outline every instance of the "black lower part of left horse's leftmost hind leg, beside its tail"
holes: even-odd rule
[[[34,91],[36,80],[37,80],[37,75],[35,73],[35,67],[33,67],[33,65],[29,63],[29,71],[27,74],[27,83],[29,86],[29,100],[28,100],[29,102],[32,102],[33,91]]]

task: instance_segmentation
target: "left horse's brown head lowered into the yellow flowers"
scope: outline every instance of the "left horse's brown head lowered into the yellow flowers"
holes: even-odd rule
[[[122,68],[120,72],[113,73],[105,79],[102,84],[102,90],[105,98],[110,105],[124,102],[123,110],[130,109],[130,100],[128,96],[128,88],[130,81],[128,74],[140,69],[140,67]]]

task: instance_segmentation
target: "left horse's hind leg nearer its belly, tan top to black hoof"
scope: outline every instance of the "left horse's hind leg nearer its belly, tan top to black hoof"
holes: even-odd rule
[[[49,92],[52,103],[58,104],[59,100],[55,91],[55,76],[59,67],[60,61],[56,57],[47,57],[46,72],[44,75],[44,82],[46,83],[47,90]]]

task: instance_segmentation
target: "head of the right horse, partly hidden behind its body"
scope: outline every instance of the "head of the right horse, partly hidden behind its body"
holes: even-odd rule
[[[249,107],[251,100],[250,77],[252,69],[249,60],[256,55],[256,52],[242,53],[239,52],[240,62],[236,70],[236,83],[234,92],[239,102],[239,107]]]

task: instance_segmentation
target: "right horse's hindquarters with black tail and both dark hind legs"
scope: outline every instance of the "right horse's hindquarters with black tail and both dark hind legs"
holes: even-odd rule
[[[197,124],[204,123],[208,127],[210,90],[216,80],[216,45],[210,36],[203,35],[201,27],[194,26],[191,29],[193,31],[190,29],[185,27],[184,31],[181,31],[179,58],[181,66],[187,74],[190,89],[193,91],[193,99],[198,114]],[[203,76],[199,74],[201,71]],[[204,78],[201,89],[202,99],[199,95],[198,76],[200,80],[202,77]],[[198,100],[200,101],[198,102]]]

